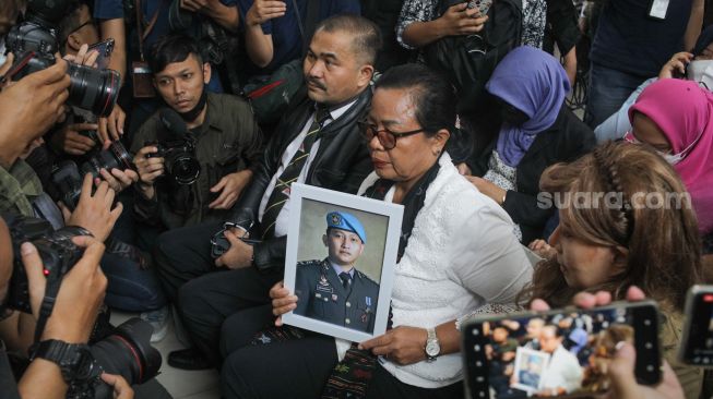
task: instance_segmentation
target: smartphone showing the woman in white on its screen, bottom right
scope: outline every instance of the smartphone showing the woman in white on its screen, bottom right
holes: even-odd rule
[[[637,349],[640,384],[661,380],[658,309],[615,302],[582,311],[480,315],[462,329],[467,398],[587,397],[606,392],[620,341]]]

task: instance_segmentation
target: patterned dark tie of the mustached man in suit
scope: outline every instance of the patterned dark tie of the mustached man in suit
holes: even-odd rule
[[[331,118],[330,111],[326,108],[317,108],[314,111],[314,119],[312,124],[307,130],[307,135],[305,141],[293,156],[293,159],[287,164],[285,170],[277,178],[275,182],[275,189],[270,194],[270,200],[268,200],[268,206],[265,211],[262,214],[262,239],[273,237],[275,233],[275,222],[277,221],[277,216],[282,210],[282,207],[285,205],[287,200],[289,200],[289,186],[297,181],[299,173],[302,171],[307,159],[309,158],[309,153],[312,149],[312,144],[320,137],[320,132],[322,124]]]

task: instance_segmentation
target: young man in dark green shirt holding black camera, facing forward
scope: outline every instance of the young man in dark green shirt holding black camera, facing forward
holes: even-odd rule
[[[159,39],[150,62],[154,85],[170,108],[154,113],[133,141],[138,217],[164,229],[223,220],[260,156],[250,106],[206,90],[211,65],[188,36]]]

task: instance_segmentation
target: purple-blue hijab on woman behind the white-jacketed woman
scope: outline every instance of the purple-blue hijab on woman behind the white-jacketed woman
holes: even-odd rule
[[[515,168],[536,135],[557,120],[570,90],[569,78],[552,56],[523,46],[500,61],[485,88],[530,118],[520,126],[506,122],[500,128],[498,155],[506,165]]]

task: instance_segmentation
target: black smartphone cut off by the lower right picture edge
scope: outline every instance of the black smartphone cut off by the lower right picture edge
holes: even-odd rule
[[[693,286],[686,298],[684,337],[678,359],[699,367],[713,367],[713,286]]]

